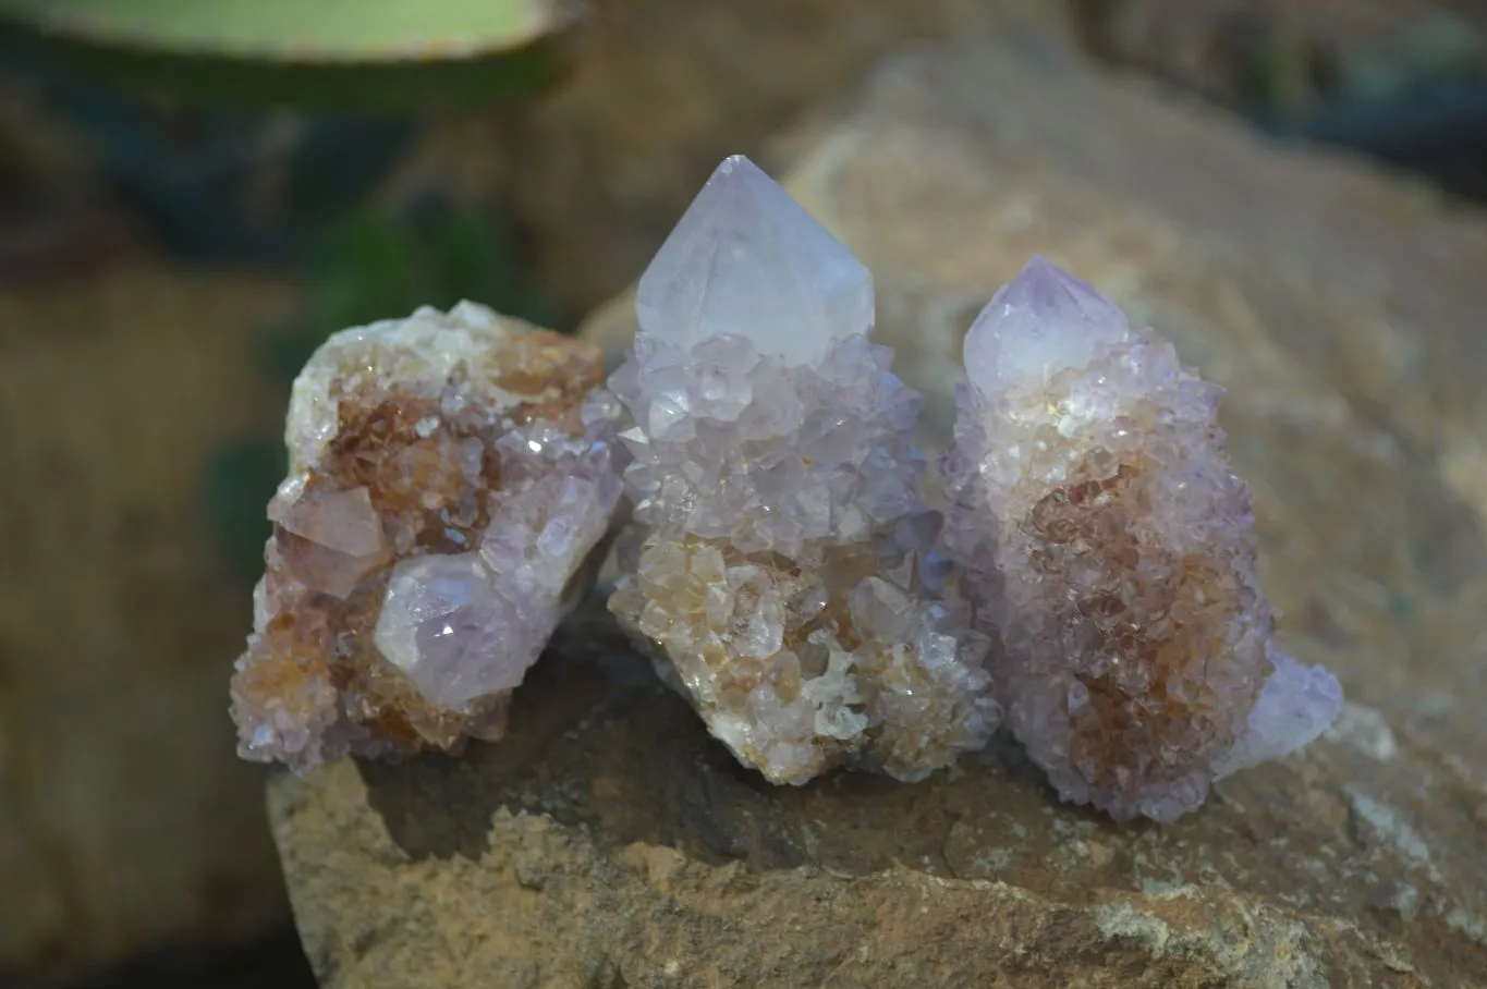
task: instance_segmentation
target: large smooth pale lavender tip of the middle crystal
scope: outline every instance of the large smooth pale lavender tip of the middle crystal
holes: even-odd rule
[[[641,332],[690,349],[746,336],[760,354],[816,364],[873,326],[867,268],[754,162],[723,161],[641,277]]]

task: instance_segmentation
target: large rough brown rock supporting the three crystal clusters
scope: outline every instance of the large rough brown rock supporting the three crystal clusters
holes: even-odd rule
[[[1487,220],[1038,54],[906,57],[796,141],[941,436],[961,333],[1039,251],[1230,387],[1280,642],[1355,703],[1170,825],[1060,805],[1014,747],[772,788],[613,687],[644,666],[598,622],[500,747],[274,782],[323,980],[1483,985]]]

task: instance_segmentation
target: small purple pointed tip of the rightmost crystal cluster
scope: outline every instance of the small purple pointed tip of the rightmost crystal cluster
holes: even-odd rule
[[[1120,308],[1036,256],[1004,286],[965,335],[965,370],[981,394],[1084,367],[1102,344],[1126,336]]]

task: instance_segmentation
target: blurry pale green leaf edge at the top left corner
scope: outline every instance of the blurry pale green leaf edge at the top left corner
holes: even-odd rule
[[[183,103],[406,112],[529,94],[550,0],[0,0],[0,58]],[[7,55],[12,52],[13,55]]]

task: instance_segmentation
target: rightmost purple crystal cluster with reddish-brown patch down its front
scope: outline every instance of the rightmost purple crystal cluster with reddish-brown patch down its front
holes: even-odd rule
[[[1042,259],[975,320],[965,366],[944,544],[1059,793],[1169,821],[1315,739],[1341,690],[1276,648],[1222,388]]]

